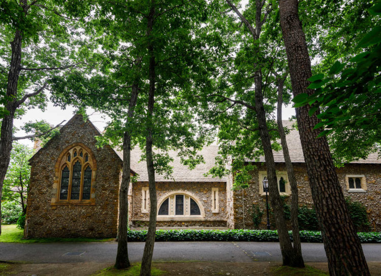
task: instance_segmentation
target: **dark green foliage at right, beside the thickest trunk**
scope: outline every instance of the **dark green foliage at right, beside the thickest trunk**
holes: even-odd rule
[[[379,152],[381,27],[375,22],[379,21],[380,7],[381,2],[375,1],[369,9],[373,16],[368,16],[366,34],[355,40],[357,47],[351,45],[354,50],[331,64],[326,74],[309,79],[308,88],[315,89],[314,93],[299,94],[293,99],[294,107],[310,105],[310,115],[320,110],[317,117],[321,122],[314,128],[325,128],[320,135],[331,134],[329,140],[337,163]]]

